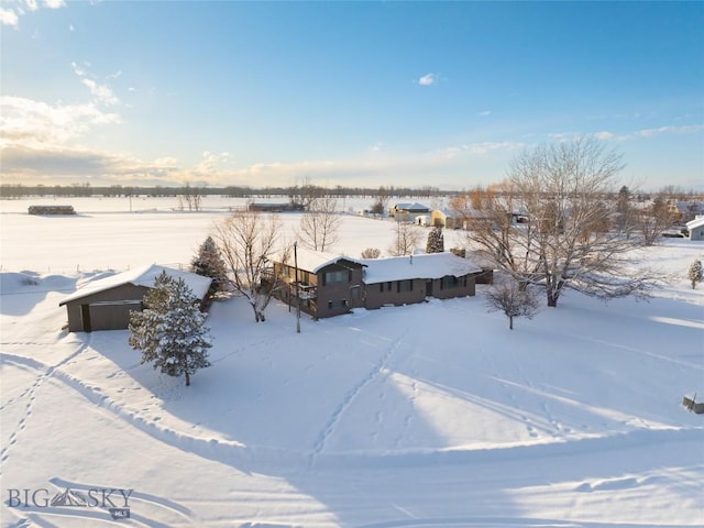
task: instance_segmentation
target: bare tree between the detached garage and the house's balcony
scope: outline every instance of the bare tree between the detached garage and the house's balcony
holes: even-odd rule
[[[213,228],[230,284],[252,306],[257,322],[264,321],[264,310],[284,284],[282,277],[274,276],[271,264],[280,232],[278,217],[265,218],[258,211],[237,211]]]

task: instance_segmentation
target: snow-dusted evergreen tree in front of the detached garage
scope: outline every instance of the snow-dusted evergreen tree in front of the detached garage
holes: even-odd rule
[[[206,315],[183,278],[162,272],[144,296],[145,309],[130,315],[130,346],[142,351],[142,363],[154,362],[154,369],[169,376],[190,375],[210,366],[210,336]]]

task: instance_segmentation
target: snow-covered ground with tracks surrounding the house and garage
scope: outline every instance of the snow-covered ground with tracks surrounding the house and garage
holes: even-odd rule
[[[97,271],[187,263],[227,210],[168,200],[0,204],[2,526],[704,526],[704,417],[682,406],[704,399],[704,286],[686,280],[704,244],[644,250],[673,277],[650,302],[566,294],[513,331],[482,286],[299,334],[286,306],[255,323],[216,302],[212,367],[185,387],[127,331],[62,331],[58,307]],[[341,234],[359,256],[393,223],[349,215]],[[42,503],[67,488],[131,494]]]

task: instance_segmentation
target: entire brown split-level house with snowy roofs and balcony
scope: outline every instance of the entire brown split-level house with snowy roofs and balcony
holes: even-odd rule
[[[472,296],[482,268],[452,253],[429,253],[388,258],[352,258],[305,248],[286,262],[274,262],[274,274],[286,286],[275,293],[285,302],[315,318],[349,312],[352,308],[422,302]],[[296,280],[297,274],[297,280]]]

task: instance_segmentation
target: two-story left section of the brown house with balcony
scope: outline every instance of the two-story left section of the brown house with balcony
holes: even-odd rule
[[[318,318],[339,316],[363,306],[362,267],[358,258],[298,246],[286,262],[274,261],[274,275],[285,287],[275,296],[289,305],[300,299],[300,309]]]

